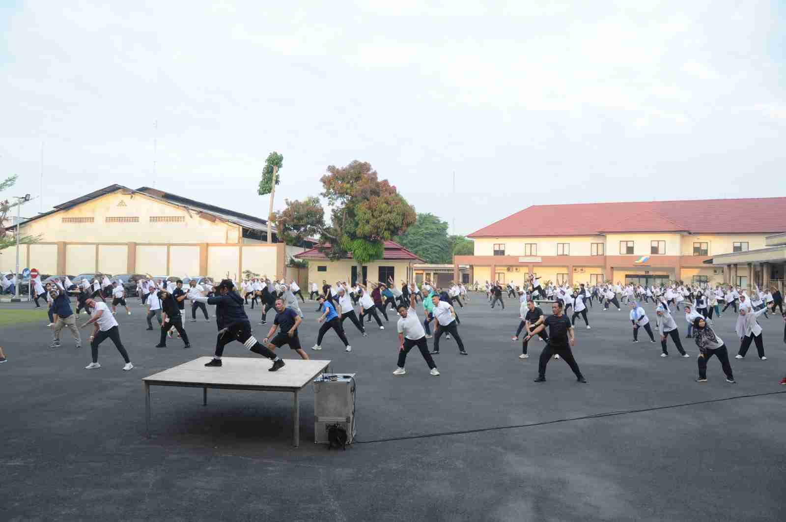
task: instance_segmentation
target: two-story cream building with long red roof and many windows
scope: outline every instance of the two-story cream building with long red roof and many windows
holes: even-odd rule
[[[570,284],[677,280],[747,287],[754,267],[729,270],[705,261],[764,248],[767,236],[784,231],[786,197],[534,205],[469,234],[474,255],[454,256],[454,278],[521,285],[536,274]]]

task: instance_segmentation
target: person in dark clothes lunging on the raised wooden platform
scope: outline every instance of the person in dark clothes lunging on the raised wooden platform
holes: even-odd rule
[[[195,298],[202,303],[215,304],[215,321],[219,327],[219,335],[215,340],[215,355],[213,355],[211,362],[204,366],[222,366],[221,357],[224,354],[224,347],[233,340],[243,343],[249,351],[273,361],[273,366],[270,366],[268,371],[275,372],[285,366],[281,357],[256,340],[255,336],[252,336],[251,323],[248,322],[248,315],[243,307],[243,298],[234,291],[232,281],[229,279],[221,281],[218,292],[218,296]]]

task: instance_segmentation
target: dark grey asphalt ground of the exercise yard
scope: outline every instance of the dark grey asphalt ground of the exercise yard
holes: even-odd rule
[[[67,330],[51,349],[44,311],[39,322],[2,327],[0,519],[786,520],[779,316],[760,320],[767,361],[755,347],[732,358],[736,385],[714,358],[709,382],[697,384],[691,340],[683,339],[691,358],[671,345],[661,358],[644,332],[645,342],[631,343],[626,309],[601,312],[597,303],[593,329],[577,320],[574,348],[589,384],[556,360],[545,383],[532,381],[543,344],[532,341],[531,358],[518,358],[517,300],[490,310],[473,294],[459,309],[469,356],[443,338],[439,377],[417,349],[405,376],[391,374],[392,314],[367,338],[347,322],[351,353],[332,331],[321,352],[308,350],[358,374],[358,437],[343,451],[310,443],[313,388],[301,395],[299,448],[292,395],[270,392],[211,390],[205,407],[198,388],[153,387],[147,439],[141,378],[211,355],[216,328],[186,322],[193,349],[177,339],[155,348],[157,329],[145,331],[143,309],[130,303],[132,315],[118,314],[130,372],[110,340],[102,368],[84,369],[89,329],[81,350]],[[0,314],[31,306],[3,304]],[[314,302],[301,306],[310,347],[318,314]],[[258,309],[249,314],[263,337]],[[684,337],[684,314],[676,318]],[[734,322],[734,314],[715,321],[732,356]],[[233,343],[226,356],[249,353]]]

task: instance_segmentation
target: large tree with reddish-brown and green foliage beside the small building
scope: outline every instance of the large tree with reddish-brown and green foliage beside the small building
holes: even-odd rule
[[[346,167],[330,165],[320,178],[321,197],[331,207],[330,223],[316,197],[287,201],[275,217],[279,233],[288,237],[319,235],[320,250],[328,259],[352,255],[362,266],[384,255],[384,241],[405,233],[416,221],[415,209],[387,179],[380,181],[371,164],[353,161]],[[317,234],[318,233],[318,234]]]

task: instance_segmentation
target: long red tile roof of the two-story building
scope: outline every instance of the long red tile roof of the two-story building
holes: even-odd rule
[[[786,232],[786,197],[533,205],[468,237]]]

